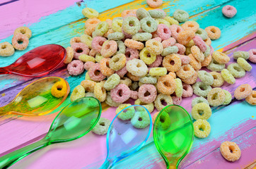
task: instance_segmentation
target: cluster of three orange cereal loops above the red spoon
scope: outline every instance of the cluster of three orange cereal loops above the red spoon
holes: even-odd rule
[[[28,47],[31,35],[32,32],[28,27],[18,27],[13,33],[11,44],[9,42],[0,43],[0,56],[12,56],[15,49],[25,50]]]

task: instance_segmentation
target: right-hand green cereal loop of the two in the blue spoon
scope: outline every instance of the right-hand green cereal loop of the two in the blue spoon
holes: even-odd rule
[[[142,119],[142,120],[139,120]],[[131,123],[136,128],[145,128],[150,124],[149,114],[144,111],[137,111],[131,119]]]

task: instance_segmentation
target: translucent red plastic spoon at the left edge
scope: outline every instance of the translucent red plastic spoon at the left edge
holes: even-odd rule
[[[1,74],[39,77],[57,68],[66,57],[66,49],[58,44],[39,46],[23,54],[11,65],[0,68]]]

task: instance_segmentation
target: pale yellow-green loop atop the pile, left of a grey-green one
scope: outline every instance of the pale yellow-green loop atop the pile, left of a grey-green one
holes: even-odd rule
[[[124,18],[124,21],[122,22],[122,28],[124,32],[127,32],[129,35],[134,35],[141,29],[141,24],[139,23],[138,18],[129,16]]]

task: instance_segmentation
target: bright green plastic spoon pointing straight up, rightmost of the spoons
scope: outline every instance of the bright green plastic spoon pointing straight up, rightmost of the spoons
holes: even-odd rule
[[[153,140],[166,168],[178,168],[180,161],[190,151],[193,139],[194,127],[190,114],[178,105],[163,108],[153,125]]]

